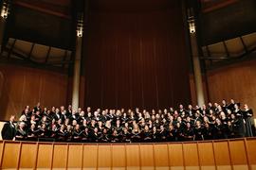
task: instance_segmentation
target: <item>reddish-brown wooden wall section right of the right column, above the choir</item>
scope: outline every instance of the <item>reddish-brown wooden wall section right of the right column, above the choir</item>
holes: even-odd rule
[[[247,103],[256,110],[256,60],[248,60],[209,71],[210,100],[230,98]]]

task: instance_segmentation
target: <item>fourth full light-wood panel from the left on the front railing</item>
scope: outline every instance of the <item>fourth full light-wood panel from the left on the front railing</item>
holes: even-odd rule
[[[65,169],[67,161],[67,144],[54,144],[53,169]]]

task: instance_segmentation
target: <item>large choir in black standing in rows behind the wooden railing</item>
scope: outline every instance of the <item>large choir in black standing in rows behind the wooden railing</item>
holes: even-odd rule
[[[72,110],[52,107],[32,110],[19,118],[15,140],[74,143],[155,143],[216,140],[254,135],[253,112],[233,99],[187,109]],[[3,133],[3,131],[2,131]]]

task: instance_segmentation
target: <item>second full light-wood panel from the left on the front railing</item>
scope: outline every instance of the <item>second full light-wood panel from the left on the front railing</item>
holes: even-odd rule
[[[35,167],[37,157],[37,144],[22,144],[20,168],[33,169]]]

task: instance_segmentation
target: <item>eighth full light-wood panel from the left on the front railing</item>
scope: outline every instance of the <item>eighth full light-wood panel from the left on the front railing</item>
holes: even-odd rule
[[[125,145],[112,146],[112,165],[119,168],[126,166]]]

